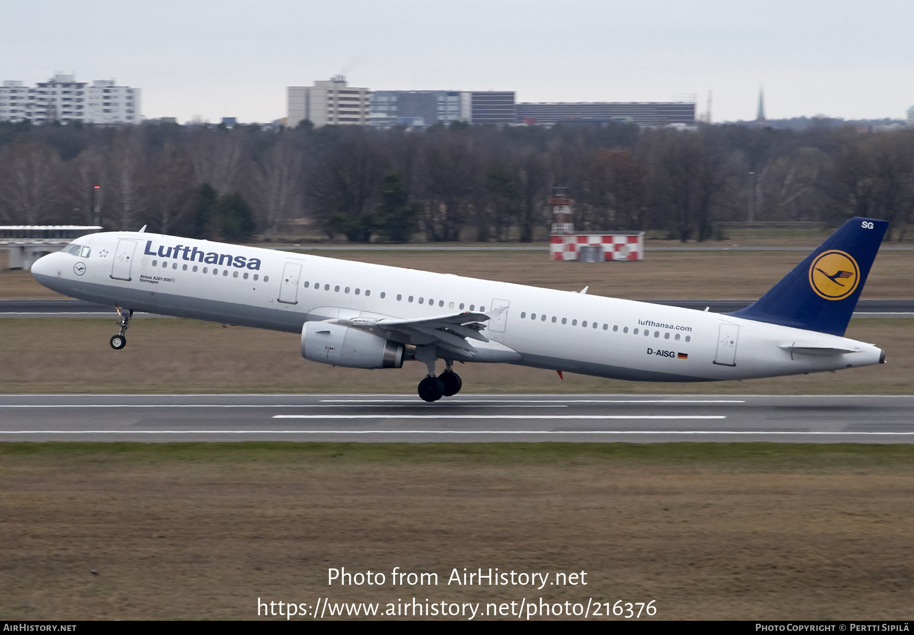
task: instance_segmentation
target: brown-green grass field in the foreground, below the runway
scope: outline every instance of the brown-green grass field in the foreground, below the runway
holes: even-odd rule
[[[416,597],[908,619],[912,479],[910,445],[0,444],[0,614],[256,619],[257,598]],[[440,584],[327,587],[341,566]],[[589,584],[447,586],[464,566]]]

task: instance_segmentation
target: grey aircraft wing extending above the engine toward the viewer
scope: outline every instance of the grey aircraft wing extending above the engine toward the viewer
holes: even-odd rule
[[[489,341],[480,332],[485,329],[484,322],[490,317],[486,313],[464,311],[412,320],[356,317],[328,322],[352,326],[401,344],[434,344],[454,353],[472,357],[477,349],[468,340]]]

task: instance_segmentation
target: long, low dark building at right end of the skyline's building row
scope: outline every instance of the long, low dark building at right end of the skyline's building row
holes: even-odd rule
[[[642,126],[695,125],[694,101],[518,103],[516,109],[517,122],[529,125],[612,121]]]

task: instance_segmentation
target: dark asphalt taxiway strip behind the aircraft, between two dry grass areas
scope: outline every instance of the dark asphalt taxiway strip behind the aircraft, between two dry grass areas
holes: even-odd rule
[[[655,304],[682,306],[715,313],[739,311],[753,300],[654,300]],[[155,313],[134,313],[134,317],[162,317]],[[861,300],[857,302],[855,317],[914,317],[914,300]],[[100,317],[116,318],[110,306],[81,300],[3,300],[0,317]]]

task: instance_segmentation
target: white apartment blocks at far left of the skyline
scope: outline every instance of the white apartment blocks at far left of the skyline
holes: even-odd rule
[[[0,121],[138,123],[141,92],[99,79],[89,86],[73,75],[55,75],[35,88],[6,80],[0,87]]]

